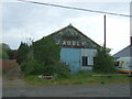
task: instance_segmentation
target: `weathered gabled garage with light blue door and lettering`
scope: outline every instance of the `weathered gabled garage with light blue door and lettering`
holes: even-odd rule
[[[92,69],[97,47],[100,45],[72,24],[48,36],[52,36],[55,43],[62,47],[61,61],[70,66],[72,73]]]

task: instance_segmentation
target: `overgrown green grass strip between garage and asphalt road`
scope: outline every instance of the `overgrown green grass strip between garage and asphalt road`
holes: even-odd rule
[[[130,82],[130,78],[127,75],[110,74],[110,76],[94,76],[102,75],[99,73],[78,73],[70,75],[68,78],[56,79],[41,79],[38,76],[26,76],[24,80],[29,85],[34,86],[52,86],[52,85],[88,85],[88,84],[122,84]]]

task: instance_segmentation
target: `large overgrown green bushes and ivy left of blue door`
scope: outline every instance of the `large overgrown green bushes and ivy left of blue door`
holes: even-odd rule
[[[19,54],[22,55],[20,56],[21,69],[25,75],[68,77],[68,66],[59,63],[59,52],[61,47],[51,37],[34,42],[30,48],[22,43],[19,48]]]

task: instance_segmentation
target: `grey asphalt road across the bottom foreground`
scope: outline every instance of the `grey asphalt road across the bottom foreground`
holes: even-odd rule
[[[130,97],[130,85],[4,87],[3,97]]]

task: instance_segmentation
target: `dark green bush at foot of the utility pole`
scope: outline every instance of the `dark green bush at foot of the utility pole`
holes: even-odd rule
[[[94,72],[99,73],[114,73],[114,59],[109,54],[110,50],[105,47],[98,48],[98,53],[95,59]]]

